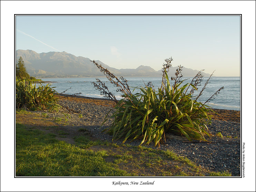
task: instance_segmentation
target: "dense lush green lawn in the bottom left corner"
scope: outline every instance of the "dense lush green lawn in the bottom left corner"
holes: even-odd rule
[[[83,150],[54,135],[16,124],[16,176],[131,176],[104,160],[106,152]]]

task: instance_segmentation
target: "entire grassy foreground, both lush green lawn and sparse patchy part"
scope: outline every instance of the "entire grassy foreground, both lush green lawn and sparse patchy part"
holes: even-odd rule
[[[55,129],[55,126],[49,127]],[[81,132],[85,131],[81,129]],[[68,133],[57,131],[58,137]],[[37,127],[16,124],[16,176],[36,177],[126,177],[126,176],[231,176],[209,172],[173,151],[145,146],[117,145],[91,140],[88,135],[74,138],[76,145],[58,141]]]

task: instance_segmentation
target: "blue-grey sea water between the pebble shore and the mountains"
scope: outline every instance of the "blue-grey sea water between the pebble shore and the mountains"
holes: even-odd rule
[[[193,77],[183,77],[187,79],[184,83],[190,83]],[[115,94],[117,99],[121,99],[121,92],[116,92],[117,87],[111,84],[106,77],[99,77],[99,79],[108,86],[110,92]],[[152,82],[154,88],[158,90],[158,87],[161,87],[162,77],[128,77],[128,85],[131,87],[142,86],[145,87],[149,81]],[[201,86],[198,87],[198,92],[195,91],[194,95],[198,95],[199,91],[205,85],[208,77],[204,77],[204,80],[201,82]],[[96,83],[95,77],[85,77],[85,78],[43,78],[42,81],[56,82],[51,83],[51,87],[61,93],[68,89],[65,94],[76,94],[81,93],[81,96],[86,97],[96,97],[104,98],[103,95],[100,95],[100,91],[93,87],[91,82]],[[170,81],[173,83],[173,81]],[[230,110],[240,110],[240,77],[211,77],[209,83],[206,86],[206,89],[203,91],[203,94],[198,98],[198,101],[205,103],[215,92],[220,88],[219,95],[215,95],[214,99],[211,99],[207,104],[210,107],[216,109],[230,109]],[[189,89],[190,90],[190,89]],[[139,92],[138,89],[134,90],[134,93]]]

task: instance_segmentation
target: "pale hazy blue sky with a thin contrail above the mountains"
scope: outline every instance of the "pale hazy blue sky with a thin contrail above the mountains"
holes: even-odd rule
[[[115,68],[173,66],[240,76],[240,16],[16,16],[16,50],[66,51]]]

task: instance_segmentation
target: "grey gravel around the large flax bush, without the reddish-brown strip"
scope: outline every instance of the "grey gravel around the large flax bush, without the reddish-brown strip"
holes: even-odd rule
[[[98,139],[112,141],[111,135],[101,132],[102,129],[107,128],[111,123],[109,120],[105,122],[104,126],[101,126],[108,111],[112,109],[111,107],[93,103],[72,102],[70,100],[59,100],[59,104],[63,106],[66,113],[70,114],[69,124],[85,127],[93,137]],[[56,118],[57,114],[48,113],[48,116]],[[82,118],[79,118],[80,114]],[[160,147],[154,147],[153,144],[150,144],[148,147],[172,150],[178,155],[194,161],[201,167],[218,172],[229,171],[232,173],[232,176],[240,176],[240,123],[212,120],[212,124],[208,128],[211,134],[214,135],[214,137],[209,139],[212,143],[191,143],[169,139],[165,145]],[[221,132],[223,138],[216,136],[218,132]],[[122,140],[115,142],[119,144],[122,143]],[[129,144],[137,146],[140,142],[133,141]]]

